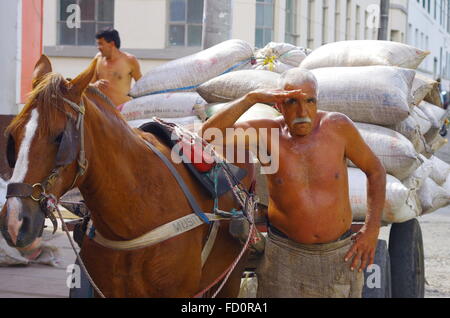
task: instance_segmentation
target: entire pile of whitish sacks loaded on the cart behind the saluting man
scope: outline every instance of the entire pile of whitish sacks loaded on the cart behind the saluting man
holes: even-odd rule
[[[147,73],[122,113],[133,125],[152,116],[205,121],[252,90],[278,88],[284,71],[308,69],[319,84],[319,109],[352,119],[388,173],[383,221],[405,222],[450,203],[450,165],[433,156],[447,142],[439,131],[448,114],[437,82],[416,74],[428,54],[370,40],[330,43],[312,52],[269,43],[253,53],[244,41],[230,40]],[[257,104],[238,122],[280,115],[271,105]],[[354,220],[364,221],[366,177],[351,161],[348,173]],[[259,192],[267,201],[267,187]]]

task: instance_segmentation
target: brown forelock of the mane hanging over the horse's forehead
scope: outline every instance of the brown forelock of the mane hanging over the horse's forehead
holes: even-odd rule
[[[52,123],[57,120],[57,112],[50,107],[58,105],[61,110],[72,112],[65,103],[62,103],[62,97],[68,93],[67,81],[61,74],[48,73],[40,79],[36,87],[29,93],[27,102],[22,111],[12,120],[5,130],[5,135],[13,133],[23,127],[29,118],[33,108],[39,110],[39,117],[42,125],[38,127],[38,134],[49,134]],[[64,106],[63,106],[64,105]]]

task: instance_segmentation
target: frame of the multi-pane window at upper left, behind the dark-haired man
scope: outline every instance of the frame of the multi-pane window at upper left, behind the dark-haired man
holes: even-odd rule
[[[79,33],[82,32],[81,31],[81,27],[80,29],[75,28],[75,43],[73,44],[62,44],[61,43],[61,25],[65,25],[67,23],[67,20],[62,20],[61,19],[61,4],[62,4],[63,0],[58,0],[57,1],[57,20],[56,20],[56,45],[57,46],[83,46],[83,47],[95,47],[95,33],[97,33],[99,30],[101,30],[102,28],[99,28],[99,25],[104,25],[104,27],[107,26],[111,26],[112,28],[114,28],[114,15],[115,15],[115,0],[111,0],[112,1],[112,21],[99,21],[98,20],[98,13],[99,13],[99,6],[102,3],[102,0],[94,0],[95,4],[94,4],[94,8],[95,8],[95,13],[94,13],[94,20],[82,20],[81,16],[80,16],[80,23],[81,23],[81,27],[83,25],[83,23],[94,23],[95,24],[95,33],[92,34],[92,38],[94,39],[94,43],[93,44],[79,44]],[[92,0],[90,0],[92,1]],[[80,0],[73,0],[73,4],[77,4],[80,5]],[[104,28],[103,27],[103,28]]]

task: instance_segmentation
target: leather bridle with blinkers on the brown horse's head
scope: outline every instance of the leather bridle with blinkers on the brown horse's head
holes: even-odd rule
[[[53,97],[57,98],[56,96]],[[53,223],[53,233],[56,232],[58,226],[56,217],[53,215],[53,207],[57,204],[57,198],[53,194],[48,193],[48,190],[54,185],[55,181],[60,176],[60,170],[71,164],[77,156],[78,171],[69,189],[72,189],[75,186],[78,178],[84,175],[88,166],[88,161],[84,150],[85,107],[83,101],[81,100],[80,104],[76,104],[65,97],[61,98],[78,113],[78,117],[75,119],[72,114],[66,112],[58,106],[55,106],[57,109],[65,113],[68,118],[61,142],[59,144],[58,152],[56,154],[55,168],[53,168],[50,175],[40,183],[35,183],[33,185],[21,182],[9,183],[6,192],[7,199],[13,197],[31,198],[33,201],[39,202],[45,217],[48,217]],[[8,147],[10,145],[11,142],[8,142]],[[11,151],[8,149],[8,156],[10,153]],[[12,163],[10,157],[8,158],[8,162],[13,168],[14,164]]]

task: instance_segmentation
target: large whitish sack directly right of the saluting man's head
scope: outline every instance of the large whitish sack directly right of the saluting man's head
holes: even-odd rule
[[[319,84],[318,108],[353,121],[394,125],[409,115],[415,71],[389,66],[312,70]]]

